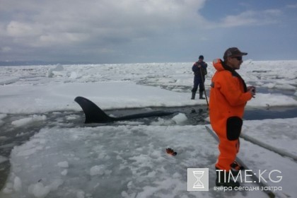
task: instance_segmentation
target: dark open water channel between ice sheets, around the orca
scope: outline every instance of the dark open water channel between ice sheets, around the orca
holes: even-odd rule
[[[209,117],[208,108],[206,105],[201,106],[186,106],[186,107],[152,107],[150,110],[164,110],[170,112],[184,113],[188,120],[185,124],[197,125],[197,124],[209,124],[206,118]],[[108,110],[107,115],[130,115],[140,112],[146,112],[147,109],[125,109],[125,110]],[[45,121],[33,122],[23,127],[15,127],[11,122],[20,120],[26,117],[32,117],[33,115],[7,115],[0,124],[0,190],[4,187],[6,179],[8,177],[10,163],[9,156],[13,146],[23,144],[28,141],[33,134],[40,131],[45,127],[62,127],[62,128],[76,128],[76,127],[98,127],[104,125],[118,126],[120,124],[129,124],[129,122],[112,122],[106,124],[83,124],[84,115],[83,112],[47,112],[42,115],[46,115]],[[174,115],[168,115],[162,117],[164,120],[170,120]],[[264,120],[275,118],[290,118],[297,117],[297,107],[273,107],[273,108],[261,108],[261,109],[246,109],[245,120]],[[141,122],[141,124],[151,124],[151,122],[157,122],[158,117],[141,118],[138,120],[131,120],[133,122]]]

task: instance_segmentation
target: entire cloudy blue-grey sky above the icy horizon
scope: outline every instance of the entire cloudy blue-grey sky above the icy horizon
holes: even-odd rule
[[[17,3],[16,3],[17,2]],[[223,3],[222,3],[223,2]],[[0,0],[0,62],[297,59],[293,0]]]

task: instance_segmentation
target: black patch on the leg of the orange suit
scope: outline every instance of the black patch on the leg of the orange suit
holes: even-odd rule
[[[241,127],[243,127],[243,120],[241,120],[240,117],[229,117],[227,119],[227,139],[238,139],[240,136]]]

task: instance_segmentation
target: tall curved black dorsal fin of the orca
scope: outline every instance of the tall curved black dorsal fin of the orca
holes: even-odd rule
[[[85,113],[86,120],[85,123],[103,123],[111,122],[113,118],[108,116],[103,110],[100,109],[95,103],[87,98],[78,96],[74,99],[78,105],[81,106],[83,112]]]

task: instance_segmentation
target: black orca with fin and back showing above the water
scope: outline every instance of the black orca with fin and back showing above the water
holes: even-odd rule
[[[86,120],[85,124],[90,123],[106,123],[106,122],[115,122],[120,120],[133,120],[143,117],[156,117],[156,116],[165,116],[173,115],[175,112],[165,112],[165,111],[153,111],[153,112],[144,112],[134,115],[125,115],[122,117],[110,117],[103,110],[100,109],[95,103],[87,98],[78,96],[74,99],[78,105],[81,106],[85,114]]]

